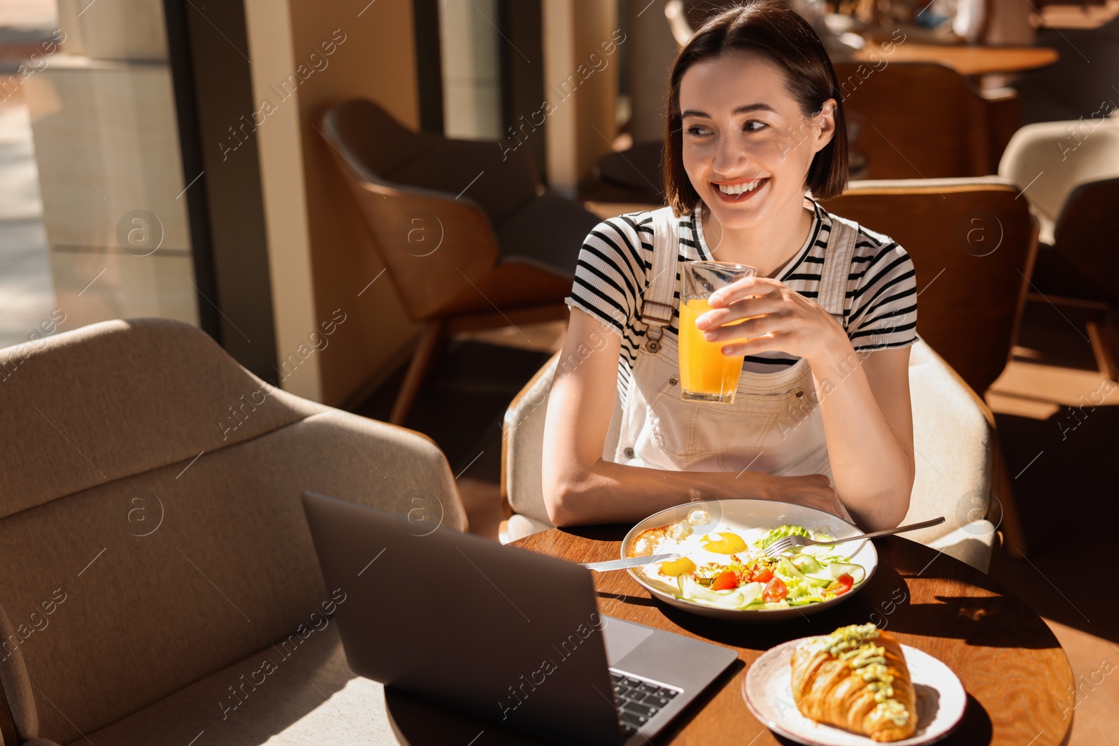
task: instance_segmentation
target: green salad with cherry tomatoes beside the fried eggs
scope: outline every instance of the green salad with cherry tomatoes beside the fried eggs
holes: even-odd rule
[[[834,551],[833,547],[793,547],[778,559],[762,551],[788,536],[821,541],[831,538],[824,533],[809,533],[802,526],[778,526],[753,544],[756,553],[746,548],[745,553],[721,558],[722,561],[665,563],[662,567],[677,565],[675,569],[685,569],[678,564],[688,561],[694,569],[687,567],[690,572],[678,574],[675,569],[662,569],[661,574],[676,576],[678,598],[717,608],[750,611],[818,604],[848,593],[866,579],[862,565],[853,564],[848,557],[828,554]]]

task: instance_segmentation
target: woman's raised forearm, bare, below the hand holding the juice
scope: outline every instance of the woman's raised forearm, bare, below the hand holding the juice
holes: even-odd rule
[[[905,517],[913,487],[911,419],[890,422],[871,388],[863,359],[849,341],[844,342],[846,349],[810,361],[831,476],[861,527],[893,528]]]

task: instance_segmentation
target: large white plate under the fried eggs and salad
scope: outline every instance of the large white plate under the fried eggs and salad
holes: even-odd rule
[[[714,531],[720,523],[723,523],[751,545],[770,529],[777,528],[782,523],[803,526],[814,533],[827,533],[837,539],[864,533],[858,527],[848,523],[841,518],[836,518],[831,513],[816,510],[815,508],[806,508],[805,506],[796,506],[790,502],[777,502],[775,500],[697,500],[661,510],[638,521],[626,535],[626,538],[622,539],[622,557],[630,556],[630,547],[633,546],[633,541],[637,540],[641,531],[684,520],[697,508],[706,510],[711,516],[711,522],[706,528],[706,532]],[[704,529],[700,528],[697,530]],[[874,575],[874,569],[878,566],[878,553],[872,542],[862,539],[837,544],[835,545],[835,549],[837,555],[850,557],[850,561],[862,565],[866,569],[866,578],[847,593],[836,596],[830,601],[807,604],[805,606],[790,606],[788,608],[716,608],[685,598],[678,598],[677,594],[679,594],[679,591],[674,584],[652,582],[641,573],[640,568],[630,568],[628,572],[630,577],[640,583],[657,598],[687,612],[734,622],[777,622],[790,617],[807,616],[821,612],[825,608],[830,608],[836,604],[841,604],[871,582],[871,576]]]

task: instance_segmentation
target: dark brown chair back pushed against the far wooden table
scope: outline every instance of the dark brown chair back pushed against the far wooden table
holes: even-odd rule
[[[866,179],[987,176],[1018,126],[1017,94],[979,94],[931,63],[836,63],[844,107],[861,124]]]

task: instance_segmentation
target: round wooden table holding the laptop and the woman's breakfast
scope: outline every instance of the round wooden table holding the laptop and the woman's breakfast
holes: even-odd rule
[[[619,557],[628,527],[552,529],[516,546],[584,563]],[[774,624],[735,624],[696,616],[656,601],[629,573],[595,574],[599,610],[739,651],[739,661],[655,739],[657,744],[788,743],[746,709],[746,668],[765,650],[838,626],[875,622],[902,642],[947,663],[968,691],[963,723],[947,745],[1056,746],[1072,729],[1073,678],[1060,643],[1033,610],[989,576],[924,545],[875,541],[878,568],[850,601]],[[753,740],[752,740],[753,739]]]

